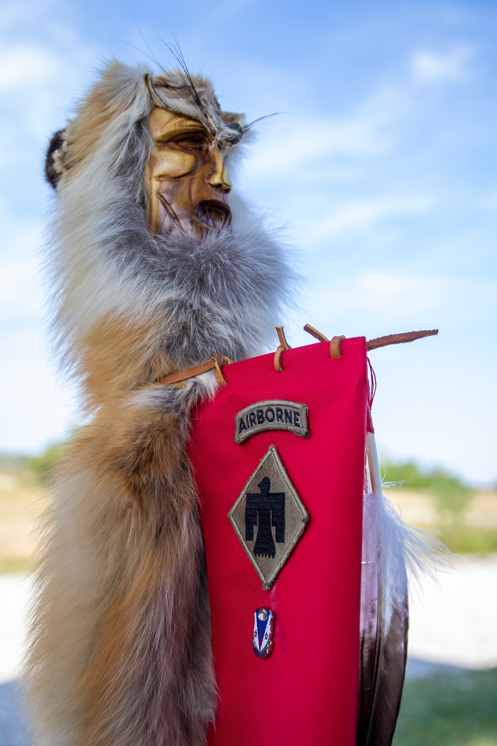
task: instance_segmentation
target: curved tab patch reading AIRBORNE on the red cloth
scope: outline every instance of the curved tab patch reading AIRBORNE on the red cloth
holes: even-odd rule
[[[308,409],[306,404],[284,399],[268,399],[250,404],[235,416],[235,443],[265,430],[289,430],[308,438]]]

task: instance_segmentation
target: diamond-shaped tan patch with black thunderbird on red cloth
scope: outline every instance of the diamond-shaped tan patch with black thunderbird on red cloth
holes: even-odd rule
[[[276,446],[270,446],[228,518],[262,580],[262,588],[269,590],[309,520]]]

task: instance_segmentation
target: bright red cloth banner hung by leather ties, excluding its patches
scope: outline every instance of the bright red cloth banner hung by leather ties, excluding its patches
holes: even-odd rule
[[[212,648],[220,695],[208,743],[354,746],[368,393],[366,343],[364,337],[344,339],[341,357],[335,359],[330,357],[329,342],[285,351],[282,372],[276,372],[273,358],[268,354],[224,366],[227,385],[220,386],[215,398],[199,404],[192,413],[189,457],[205,539]],[[261,415],[263,427],[259,429],[256,415],[253,421],[245,415],[244,425],[238,422],[237,427],[256,432],[235,442],[235,416],[269,400],[306,404],[308,436],[296,435],[298,427],[294,431],[265,429],[276,419],[273,405],[267,407],[269,414]],[[282,419],[279,412],[279,421]],[[228,513],[240,496],[238,513],[243,518],[245,510],[246,521],[245,527],[240,527],[241,537],[249,537],[251,530],[262,532],[259,545],[265,543],[269,554],[274,547],[281,551],[285,546],[282,535],[285,525],[290,533],[290,518],[286,524],[282,522],[278,495],[283,494],[283,488],[279,487],[277,494],[268,492],[269,480],[261,480],[259,487],[247,489],[253,497],[247,498],[244,492],[271,446],[276,447],[308,513],[308,524],[273,585],[265,590],[253,566],[253,560],[261,557],[250,559]],[[289,489],[287,513],[291,507]],[[250,500],[255,500],[257,507],[261,495],[267,499],[274,494],[276,497],[270,498],[272,522],[268,518],[264,534],[264,515],[252,510]],[[256,551],[253,542],[247,544]],[[254,614],[262,607],[270,609],[274,618],[273,646],[266,658],[254,654],[253,648]]]

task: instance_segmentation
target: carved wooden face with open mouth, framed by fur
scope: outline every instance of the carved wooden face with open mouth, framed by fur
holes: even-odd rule
[[[231,184],[209,131],[161,107],[152,110],[148,129],[153,140],[145,172],[151,231],[198,238],[229,226]]]

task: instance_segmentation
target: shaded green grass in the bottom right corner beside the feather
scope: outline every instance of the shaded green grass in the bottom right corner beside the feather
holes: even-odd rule
[[[497,668],[406,681],[393,746],[497,746]]]

